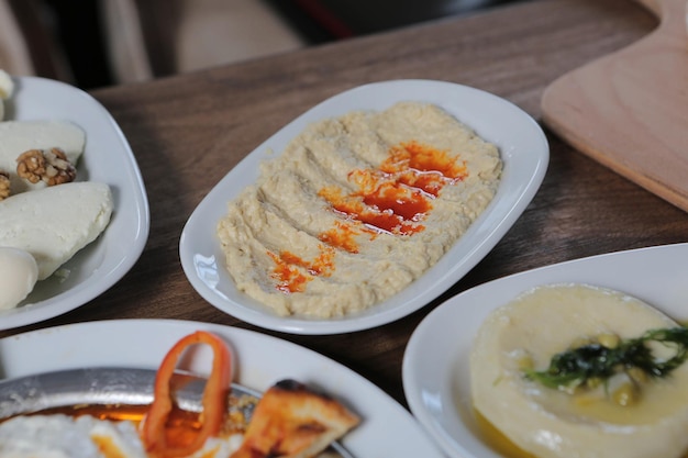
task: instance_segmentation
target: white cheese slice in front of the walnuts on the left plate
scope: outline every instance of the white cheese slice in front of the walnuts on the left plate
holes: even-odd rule
[[[98,237],[112,208],[110,187],[93,181],[12,196],[0,201],[0,246],[29,252],[44,280]]]

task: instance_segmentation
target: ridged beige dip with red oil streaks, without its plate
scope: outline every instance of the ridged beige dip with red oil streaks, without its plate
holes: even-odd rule
[[[280,315],[342,316],[399,292],[492,200],[498,148],[439,107],[309,125],[218,225],[240,291]]]

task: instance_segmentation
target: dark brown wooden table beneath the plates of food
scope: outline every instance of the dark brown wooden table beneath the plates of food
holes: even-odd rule
[[[450,80],[503,97],[540,119],[556,77],[647,34],[655,19],[629,0],[539,0],[149,83],[97,90],[138,160],[151,235],[113,288],[54,320],[0,337],[109,319],[207,321],[277,335],[359,372],[406,404],[401,361],[419,322],[447,298],[510,273],[602,253],[688,242],[688,214],[547,133],[551,163],[517,224],[464,279],[398,322],[347,335],[267,332],[229,316],[187,281],[179,236],[192,210],[247,153],[310,107],[355,86]],[[228,44],[229,45],[229,44]],[[431,357],[431,356],[430,356]]]

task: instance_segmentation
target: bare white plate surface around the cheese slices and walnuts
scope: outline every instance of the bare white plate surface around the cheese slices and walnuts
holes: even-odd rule
[[[0,312],[0,329],[19,327],[66,313],[98,297],[132,268],[148,238],[146,191],[134,155],[110,113],[91,96],[73,86],[43,78],[15,78],[16,93],[8,120],[68,120],[86,132],[77,164],[77,181],[110,185],[112,220],[98,239],[63,268],[36,283],[19,308]]]

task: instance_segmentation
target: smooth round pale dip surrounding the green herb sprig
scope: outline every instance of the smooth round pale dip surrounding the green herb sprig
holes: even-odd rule
[[[536,288],[495,311],[470,355],[476,410],[521,449],[540,458],[678,458],[688,449],[688,364],[643,386],[640,401],[620,406],[528,380],[524,358],[544,370],[577,339],[640,337],[677,324],[622,293],[581,284]]]

